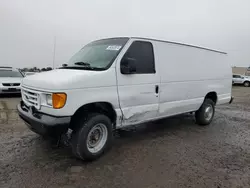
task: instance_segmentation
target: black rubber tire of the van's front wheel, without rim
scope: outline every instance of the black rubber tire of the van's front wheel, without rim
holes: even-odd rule
[[[73,130],[72,134],[72,152],[82,160],[92,161],[104,154],[105,151],[110,149],[113,141],[113,127],[110,119],[103,114],[89,114],[87,117],[80,117],[77,122],[77,129]],[[107,128],[107,140],[100,151],[93,153],[88,149],[87,139],[91,129],[97,124],[103,124]]]

